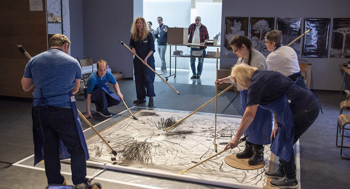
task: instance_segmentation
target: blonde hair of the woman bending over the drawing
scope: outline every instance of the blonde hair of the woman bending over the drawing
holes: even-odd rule
[[[236,64],[232,68],[230,79],[233,80],[233,77],[236,77],[237,85],[241,88],[245,88],[250,83],[256,70],[258,70],[257,67],[252,67],[245,63]]]

